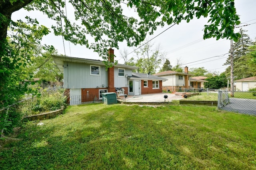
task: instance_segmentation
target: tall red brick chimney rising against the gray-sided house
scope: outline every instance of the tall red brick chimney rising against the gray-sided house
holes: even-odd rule
[[[114,50],[108,49],[108,61],[114,62]],[[114,88],[114,66],[108,68],[108,92],[116,92]]]

